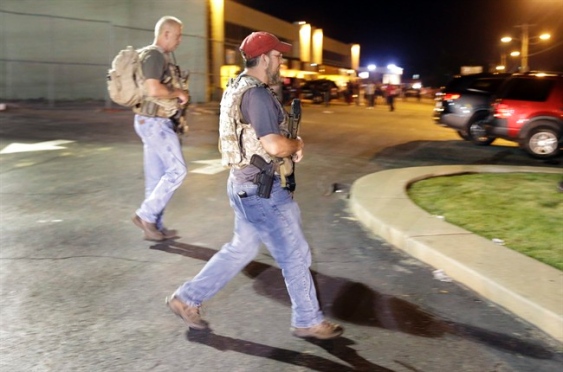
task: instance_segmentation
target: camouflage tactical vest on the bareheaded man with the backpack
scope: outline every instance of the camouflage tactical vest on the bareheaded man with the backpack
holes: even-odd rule
[[[163,52],[162,49],[157,45],[149,45],[147,47],[142,48],[139,51],[139,59],[141,61],[141,65],[144,59],[146,58],[147,54],[151,50],[158,50],[160,53],[164,55],[164,59],[166,61],[166,66],[163,75],[160,79],[160,82],[169,89],[173,89],[173,88],[184,89],[182,87],[180,77],[177,76],[178,73],[176,71],[176,65],[174,65],[170,61],[170,55],[168,53]],[[142,75],[143,69],[141,68],[140,70]],[[141,80],[143,81],[143,102],[141,102],[141,104],[138,105],[137,107],[134,107],[133,112],[145,116],[153,116],[153,117],[158,116],[163,118],[169,118],[173,116],[176,113],[176,111],[178,111],[179,106],[178,106],[178,100],[176,98],[164,99],[164,98],[149,97],[147,95],[144,86],[144,81],[145,81],[144,76]]]

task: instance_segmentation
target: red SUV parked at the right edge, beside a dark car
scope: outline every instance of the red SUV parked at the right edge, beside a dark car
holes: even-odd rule
[[[563,146],[563,72],[512,75],[496,94],[483,135],[519,144],[532,157],[557,156]]]

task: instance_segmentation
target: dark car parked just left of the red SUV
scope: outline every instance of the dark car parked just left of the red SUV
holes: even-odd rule
[[[438,125],[454,129],[464,140],[489,144],[488,137],[478,135],[480,132],[472,135],[471,128],[489,116],[493,94],[510,75],[480,73],[453,77],[436,94],[434,121]]]

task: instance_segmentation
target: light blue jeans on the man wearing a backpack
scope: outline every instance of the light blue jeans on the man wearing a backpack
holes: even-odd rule
[[[164,208],[186,177],[180,140],[170,119],[135,115],[135,131],[143,141],[145,200],[137,216],[161,230]]]

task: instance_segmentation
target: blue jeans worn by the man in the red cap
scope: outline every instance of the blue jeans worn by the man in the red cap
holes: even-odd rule
[[[260,243],[268,248],[282,270],[291,298],[291,325],[308,328],[319,324],[323,314],[309,271],[311,251],[301,230],[301,212],[289,191],[276,177],[269,199],[256,195],[251,182],[227,185],[235,212],[234,236],[223,245],[191,281],[175,292],[190,306],[200,306],[213,297],[256,257]],[[245,197],[239,196],[246,193]]]

